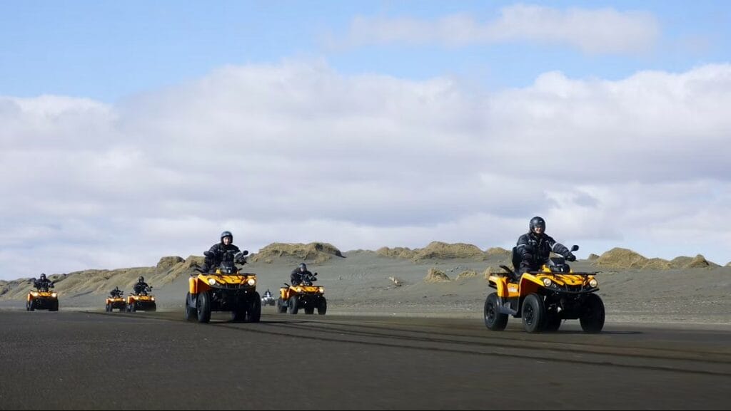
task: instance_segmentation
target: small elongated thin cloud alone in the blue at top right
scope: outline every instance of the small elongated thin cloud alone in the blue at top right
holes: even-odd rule
[[[584,53],[637,53],[651,49],[659,23],[648,12],[602,9],[553,9],[515,4],[501,9],[499,18],[485,23],[467,14],[438,20],[414,18],[355,18],[344,40],[333,44],[357,46],[405,43],[462,47],[502,42],[569,45]]]

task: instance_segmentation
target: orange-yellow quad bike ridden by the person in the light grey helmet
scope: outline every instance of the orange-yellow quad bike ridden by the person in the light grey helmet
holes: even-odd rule
[[[205,256],[211,257],[206,251]],[[211,312],[230,311],[235,322],[258,323],[262,300],[257,293],[257,274],[240,272],[236,264],[246,264],[249,251],[228,251],[215,272],[198,270],[189,278],[185,299],[185,319],[199,323],[211,321]]]

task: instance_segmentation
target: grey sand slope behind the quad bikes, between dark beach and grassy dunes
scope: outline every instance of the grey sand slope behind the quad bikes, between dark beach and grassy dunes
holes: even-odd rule
[[[319,273],[325,287],[328,314],[366,314],[482,318],[482,305],[493,291],[482,273],[507,261],[499,256],[488,261],[426,260],[414,262],[387,258],[370,251],[345,253],[322,264],[308,264]],[[273,263],[254,263],[244,271],[257,273],[258,291],[279,293],[289,282],[289,272],[300,261],[282,258]],[[596,272],[589,261],[572,264],[575,271]],[[448,283],[425,283],[429,269],[442,270]],[[455,280],[473,270],[476,277]],[[395,277],[403,285],[389,280]],[[599,296],[605,302],[607,322],[678,323],[731,325],[731,267],[635,271],[603,270],[597,275]],[[154,283],[151,283],[154,285]],[[155,287],[159,310],[181,310],[187,291],[187,276]],[[61,295],[61,310],[103,310],[105,294]],[[23,300],[2,300],[0,310],[24,310]],[[265,307],[272,310],[273,307]]]

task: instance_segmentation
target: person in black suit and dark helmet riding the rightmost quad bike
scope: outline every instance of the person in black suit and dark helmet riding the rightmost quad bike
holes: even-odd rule
[[[516,248],[518,256],[520,256],[520,265],[516,267],[518,275],[539,270],[543,264],[548,262],[551,252],[564,256],[567,261],[576,261],[571,250],[545,234],[545,220],[540,217],[531,218],[529,229],[528,233],[518,238]]]

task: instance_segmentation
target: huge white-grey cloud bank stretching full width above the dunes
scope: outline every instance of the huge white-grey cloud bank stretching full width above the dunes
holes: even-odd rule
[[[0,277],[200,255],[230,229],[344,250],[508,246],[731,260],[731,66],[483,93],[327,64],[226,67],[105,105],[0,98]]]

